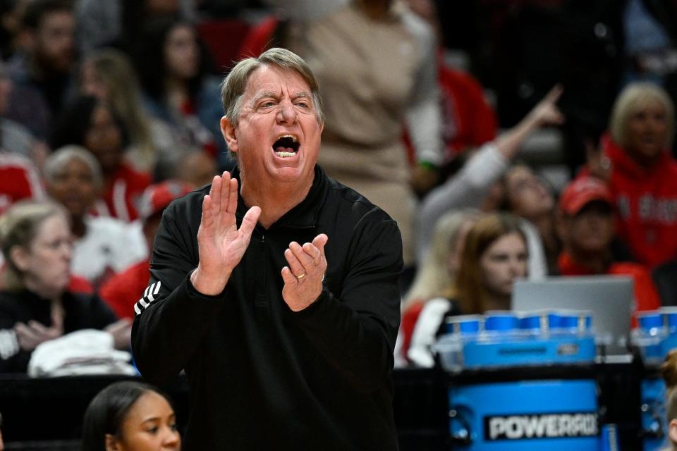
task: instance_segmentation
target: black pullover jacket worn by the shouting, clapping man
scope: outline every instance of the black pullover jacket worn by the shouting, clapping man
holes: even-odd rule
[[[238,178],[239,174],[233,174]],[[260,225],[220,295],[190,284],[209,187],[164,212],[132,342],[145,378],[182,369],[190,385],[184,450],[397,449],[393,349],[400,320],[397,224],[315,167],[307,197]],[[247,211],[238,199],[238,227]],[[326,233],[324,290],[303,311],[282,299],[283,252]]]

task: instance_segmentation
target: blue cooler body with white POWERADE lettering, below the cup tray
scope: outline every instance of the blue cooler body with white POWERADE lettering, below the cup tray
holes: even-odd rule
[[[454,449],[600,449],[597,384],[591,367],[460,373],[452,377],[449,408]]]

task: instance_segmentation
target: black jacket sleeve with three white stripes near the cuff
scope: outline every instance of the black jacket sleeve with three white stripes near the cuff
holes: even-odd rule
[[[162,216],[150,282],[134,306],[135,364],[142,376],[157,384],[171,381],[188,364],[207,329],[205,323],[222,304],[220,295],[202,295],[190,284],[197,266],[195,236],[188,225],[190,214],[174,206]]]

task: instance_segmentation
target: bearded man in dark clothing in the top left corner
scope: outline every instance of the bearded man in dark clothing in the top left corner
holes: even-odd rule
[[[75,62],[72,2],[34,0],[22,22],[22,51],[8,61],[14,89],[7,117],[47,139],[71,85]]]

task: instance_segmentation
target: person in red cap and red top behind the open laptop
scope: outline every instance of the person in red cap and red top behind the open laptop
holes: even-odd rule
[[[582,177],[567,185],[559,199],[557,227],[563,251],[558,267],[562,276],[615,274],[634,280],[634,312],[661,306],[648,269],[641,264],[611,259],[614,239],[614,197],[606,184]],[[636,326],[633,316],[633,326]]]

